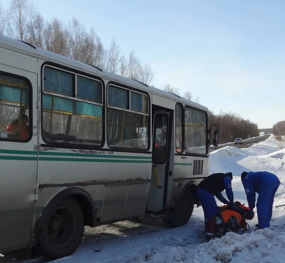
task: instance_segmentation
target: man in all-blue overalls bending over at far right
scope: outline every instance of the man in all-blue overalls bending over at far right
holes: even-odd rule
[[[280,181],[275,174],[269,172],[243,172],[241,182],[251,210],[255,207],[255,193],[258,193],[256,202],[257,227],[263,229],[270,227],[274,195],[280,186]]]

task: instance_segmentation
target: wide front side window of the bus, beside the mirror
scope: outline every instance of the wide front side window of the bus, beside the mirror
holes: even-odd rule
[[[201,110],[185,106],[185,153],[207,153],[207,114]]]

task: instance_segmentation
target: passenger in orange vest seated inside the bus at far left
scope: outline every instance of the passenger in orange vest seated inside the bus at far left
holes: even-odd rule
[[[17,139],[26,140],[29,138],[29,118],[26,114],[22,114],[18,119],[9,122],[7,125],[7,133],[18,135]]]

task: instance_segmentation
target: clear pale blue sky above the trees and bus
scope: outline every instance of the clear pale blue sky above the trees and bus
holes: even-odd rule
[[[5,8],[9,0],[0,0]],[[93,26],[150,63],[160,88],[268,128],[285,120],[285,1],[33,1],[44,16]]]

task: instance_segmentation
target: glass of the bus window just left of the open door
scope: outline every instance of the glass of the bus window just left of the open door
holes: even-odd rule
[[[108,86],[107,143],[111,148],[148,149],[148,107],[146,95]]]

